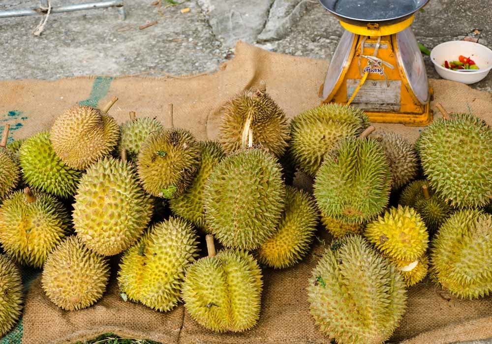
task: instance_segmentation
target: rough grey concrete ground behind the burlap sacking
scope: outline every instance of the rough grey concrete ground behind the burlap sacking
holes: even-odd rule
[[[86,0],[90,1],[90,0]],[[84,0],[51,0],[53,6]],[[236,40],[271,51],[330,59],[342,34],[314,0],[126,0],[117,10],[53,14],[43,34],[40,17],[0,19],[0,79],[81,75],[193,74],[214,71],[233,57]],[[179,2],[171,6],[172,3]],[[0,11],[37,7],[36,0],[1,0]],[[183,9],[189,8],[189,11]],[[157,21],[147,29],[139,26]],[[429,48],[465,36],[492,45],[488,0],[431,0],[413,30]],[[478,30],[478,31],[475,31]],[[426,57],[430,77],[437,77]],[[492,90],[492,73],[473,87]],[[492,344],[492,340],[473,342]]]

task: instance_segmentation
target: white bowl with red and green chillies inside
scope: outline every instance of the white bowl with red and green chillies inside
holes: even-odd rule
[[[442,66],[445,60],[456,61],[460,55],[470,57],[480,69],[473,72],[459,72]],[[449,41],[432,49],[431,61],[442,78],[463,84],[474,84],[484,79],[492,69],[492,50],[474,42]]]

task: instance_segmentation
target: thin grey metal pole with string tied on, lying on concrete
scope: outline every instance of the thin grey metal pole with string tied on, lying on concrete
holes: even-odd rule
[[[41,6],[48,7],[48,0],[39,0]],[[81,11],[87,9],[96,9],[96,8],[107,8],[107,7],[117,7],[118,13],[120,15],[120,19],[125,19],[125,10],[123,8],[123,0],[109,0],[109,1],[100,1],[100,2],[89,2],[89,3],[81,3],[74,5],[66,5],[66,6],[58,6],[52,7],[51,13],[62,13],[62,12],[73,12],[73,11]],[[23,17],[23,16],[34,16],[38,14],[46,14],[47,10],[41,8],[32,8],[32,9],[14,9],[10,11],[0,11],[0,18],[9,18],[9,17]]]

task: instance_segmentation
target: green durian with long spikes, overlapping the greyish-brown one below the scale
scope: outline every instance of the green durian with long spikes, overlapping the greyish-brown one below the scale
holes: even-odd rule
[[[383,147],[373,139],[346,138],[325,157],[314,181],[322,213],[344,223],[375,218],[389,202],[391,173]]]

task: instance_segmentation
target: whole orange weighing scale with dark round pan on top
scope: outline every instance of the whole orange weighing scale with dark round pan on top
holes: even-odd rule
[[[323,103],[364,110],[372,122],[424,126],[432,89],[410,29],[429,0],[319,0],[346,30],[320,89]]]

